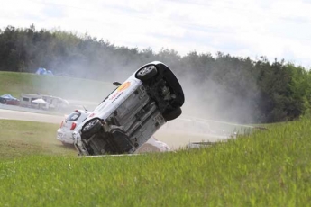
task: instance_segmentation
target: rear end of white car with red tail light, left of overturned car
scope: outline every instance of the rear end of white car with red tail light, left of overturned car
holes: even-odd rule
[[[60,123],[60,128],[57,130],[57,139],[64,145],[73,144],[72,132],[76,129],[78,124],[87,119],[87,116],[91,112],[86,110],[75,110],[71,112],[63,121]]]

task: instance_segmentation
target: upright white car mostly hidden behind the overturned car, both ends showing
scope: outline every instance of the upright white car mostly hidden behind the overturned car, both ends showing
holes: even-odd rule
[[[74,139],[72,138],[72,132],[76,129],[78,124],[87,119],[87,116],[91,112],[83,110],[75,110],[71,112],[63,121],[60,123],[60,128],[57,130],[57,139],[61,141],[63,145],[72,145]],[[138,148],[135,153],[148,153],[148,152],[165,152],[170,151],[169,146],[153,136],[146,143]]]

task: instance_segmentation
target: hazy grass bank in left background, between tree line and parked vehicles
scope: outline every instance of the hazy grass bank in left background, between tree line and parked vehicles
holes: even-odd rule
[[[0,95],[48,94],[65,99],[100,102],[114,89],[110,83],[69,76],[39,76],[0,71]],[[99,93],[102,93],[100,97]]]

